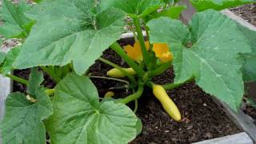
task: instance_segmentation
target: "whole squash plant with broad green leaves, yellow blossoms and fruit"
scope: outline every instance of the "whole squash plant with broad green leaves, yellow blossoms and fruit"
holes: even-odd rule
[[[244,82],[256,80],[256,32],[227,18],[218,10],[253,0],[190,0],[198,10],[188,26],[178,20],[186,6],[166,0],[2,0],[0,34],[20,44],[0,53],[1,74],[27,86],[26,94],[6,99],[1,122],[3,143],[127,143],[142,123],[126,106],[137,102],[149,86],[170,117],[180,121],[178,106],[166,94],[186,82],[238,110]],[[130,22],[125,21],[129,17]],[[123,27],[134,31],[134,46],[120,46]],[[142,30],[146,30],[145,41]],[[101,58],[114,50],[130,66],[122,68]],[[95,60],[113,66],[107,74],[129,78],[126,98],[101,100],[88,69]],[[173,67],[174,82],[154,84],[151,79]],[[29,80],[10,74],[30,68]],[[39,70],[40,68],[40,70]],[[57,83],[41,85],[42,71]]]

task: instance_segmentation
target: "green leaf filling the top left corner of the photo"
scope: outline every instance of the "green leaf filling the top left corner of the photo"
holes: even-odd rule
[[[9,0],[2,0],[1,17],[4,22],[0,26],[0,34],[6,38],[26,38],[34,24],[24,13],[29,10],[25,0],[21,0],[18,6],[15,6]]]

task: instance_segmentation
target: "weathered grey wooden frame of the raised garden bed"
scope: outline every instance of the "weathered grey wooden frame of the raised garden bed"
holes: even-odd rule
[[[195,10],[190,5],[190,2],[187,0],[183,0],[180,2],[181,4],[185,4],[188,9],[184,10],[181,14],[181,19],[184,23],[188,23]],[[244,19],[238,17],[230,10],[222,10],[222,14],[225,14],[227,17],[234,19],[238,23],[242,24],[242,26],[246,26],[251,30],[256,31],[256,27],[251,25],[249,22],[246,22]],[[122,34],[122,39],[132,38],[132,33]],[[254,86],[254,83],[250,83],[247,86]],[[0,74],[0,121],[2,120],[4,114],[4,102],[6,97],[12,91],[12,81],[9,78],[3,77]],[[228,135],[222,138],[214,138],[202,142],[196,142],[195,144],[226,144],[226,143],[236,143],[236,144],[256,144],[256,126],[254,125],[254,120],[244,114],[242,110],[239,110],[238,113],[231,110],[225,103],[219,102],[217,99],[215,101],[223,107],[226,115],[244,132],[238,134]],[[0,144],[2,144],[1,134],[0,134]]]

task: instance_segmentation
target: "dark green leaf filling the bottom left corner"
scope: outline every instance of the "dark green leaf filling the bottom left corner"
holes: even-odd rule
[[[42,73],[34,74],[33,77],[41,78]],[[37,86],[34,95],[38,102],[30,102],[21,93],[13,93],[7,97],[6,113],[1,122],[3,144],[46,143],[46,130],[42,120],[52,114],[52,106],[42,87]]]

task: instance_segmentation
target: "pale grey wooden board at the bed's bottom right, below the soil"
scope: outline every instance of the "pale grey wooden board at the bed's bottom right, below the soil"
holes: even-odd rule
[[[214,138],[202,142],[196,142],[194,144],[253,144],[253,141],[250,137],[245,133],[228,135],[222,138]]]

